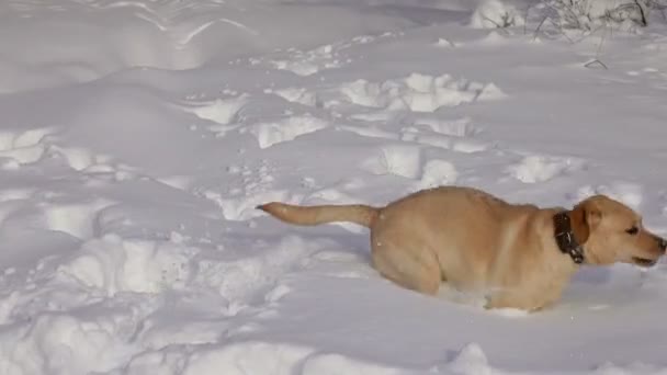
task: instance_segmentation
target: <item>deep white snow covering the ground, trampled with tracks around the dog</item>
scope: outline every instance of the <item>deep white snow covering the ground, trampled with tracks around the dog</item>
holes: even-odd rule
[[[510,5],[3,1],[0,374],[666,374],[667,262],[485,311],[253,208],[601,192],[666,235],[665,22],[486,29]]]

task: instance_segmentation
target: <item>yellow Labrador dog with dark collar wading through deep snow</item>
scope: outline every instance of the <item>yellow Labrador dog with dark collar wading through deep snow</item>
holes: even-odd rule
[[[272,202],[257,208],[293,225],[368,227],[372,266],[382,276],[429,296],[446,282],[484,295],[487,309],[543,309],[561,298],[581,264],[647,268],[667,248],[637,213],[606,195],[572,209],[540,208],[474,188],[439,186],[384,207]]]

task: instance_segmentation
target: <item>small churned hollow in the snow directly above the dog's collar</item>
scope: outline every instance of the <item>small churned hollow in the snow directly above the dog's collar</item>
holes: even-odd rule
[[[577,158],[531,155],[510,166],[508,172],[523,183],[538,183],[584,167],[584,161]]]

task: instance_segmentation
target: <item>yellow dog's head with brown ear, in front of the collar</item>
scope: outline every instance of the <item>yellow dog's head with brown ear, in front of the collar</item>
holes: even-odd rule
[[[589,264],[651,266],[667,248],[667,240],[643,227],[637,213],[604,195],[581,201],[569,212],[569,219]]]

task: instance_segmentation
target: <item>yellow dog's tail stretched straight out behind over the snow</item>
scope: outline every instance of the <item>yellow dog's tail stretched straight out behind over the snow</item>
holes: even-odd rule
[[[285,203],[271,202],[257,206],[257,208],[282,221],[301,226],[350,221],[366,228],[373,225],[380,212],[380,209],[375,207],[361,204],[295,206]]]

